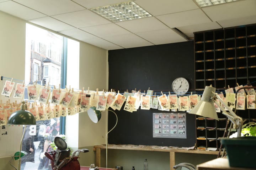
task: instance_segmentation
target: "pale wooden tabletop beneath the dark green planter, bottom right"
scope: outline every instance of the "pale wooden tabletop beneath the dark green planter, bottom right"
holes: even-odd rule
[[[197,165],[197,170],[255,170],[250,168],[230,167],[227,158],[217,158]]]

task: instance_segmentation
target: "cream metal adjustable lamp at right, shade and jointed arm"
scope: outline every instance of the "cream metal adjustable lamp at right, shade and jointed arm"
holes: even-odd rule
[[[237,129],[238,132],[237,137],[240,137],[243,123],[242,118],[236,115],[235,112],[233,112],[232,109],[226,105],[222,98],[220,98],[220,96],[215,93],[215,90],[215,87],[206,86],[201,101],[199,101],[189,113],[219,120],[216,109],[214,107],[215,102],[217,106],[222,110],[222,114],[228,117],[228,119],[233,123],[233,128]],[[228,112],[225,111],[220,103],[216,101],[217,98],[219,99],[220,103],[222,103],[225,108],[228,109]]]

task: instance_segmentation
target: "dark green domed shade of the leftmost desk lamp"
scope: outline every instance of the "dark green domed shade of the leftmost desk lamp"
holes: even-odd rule
[[[11,114],[7,124],[9,125],[36,125],[36,119],[34,115],[25,110],[26,104],[23,101],[21,105],[21,110],[16,111]]]

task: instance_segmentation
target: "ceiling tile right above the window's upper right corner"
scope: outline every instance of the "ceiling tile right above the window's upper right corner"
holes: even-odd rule
[[[64,35],[68,35],[70,37],[73,37],[73,38],[81,40],[81,41],[97,38],[97,36],[86,33],[86,32],[84,32],[83,30],[80,30],[80,29],[65,30],[65,31],[60,31],[59,33],[62,33]]]

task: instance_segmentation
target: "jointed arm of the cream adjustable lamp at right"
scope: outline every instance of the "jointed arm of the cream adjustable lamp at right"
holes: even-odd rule
[[[220,101],[220,103],[222,103],[229,112],[225,111],[225,109],[220,105],[220,103],[218,103],[216,100],[214,100],[214,102],[217,104],[217,106],[222,110],[222,114],[224,114],[226,117],[228,117],[228,119],[233,123],[233,128],[237,129],[238,132],[238,136],[241,136],[241,131],[242,131],[242,123],[244,122],[242,120],[241,117],[239,117],[238,115],[235,114],[235,112],[232,111],[232,109],[230,107],[228,107],[226,105],[226,103],[222,100],[222,98],[215,93],[215,97],[217,97]]]

